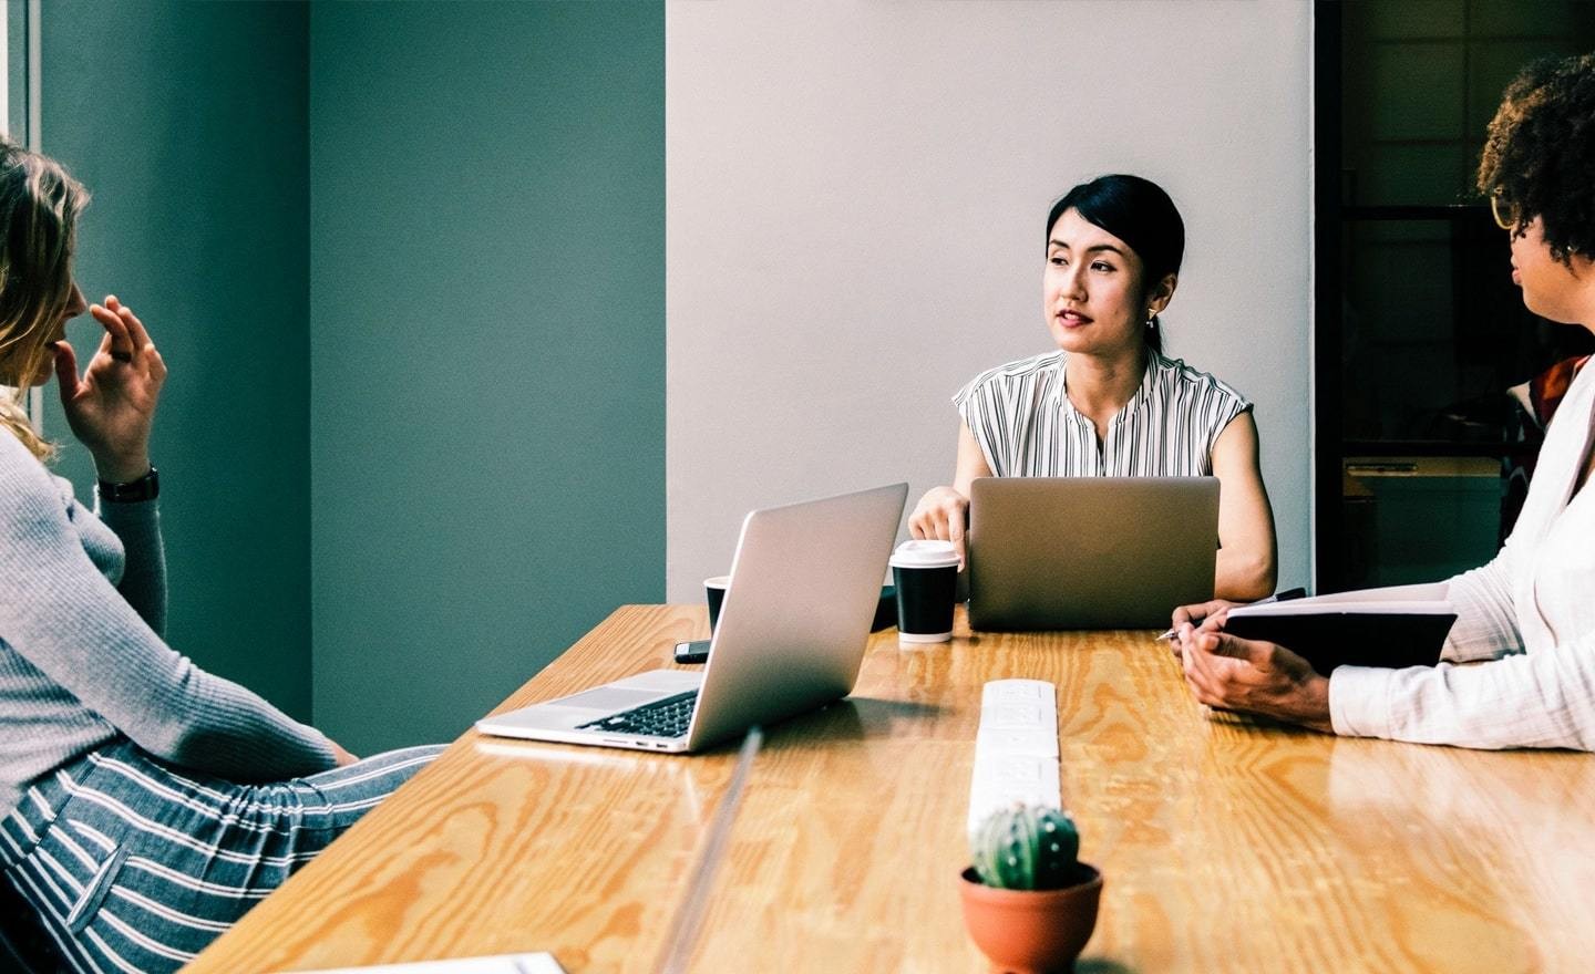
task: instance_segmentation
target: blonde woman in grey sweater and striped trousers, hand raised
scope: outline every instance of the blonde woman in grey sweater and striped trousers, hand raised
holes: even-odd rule
[[[0,931],[40,971],[175,971],[437,748],[356,760],[163,641],[166,363],[72,279],[86,201],[0,142]],[[64,335],[85,309],[105,333],[80,373]],[[51,375],[94,510],[21,408]]]

